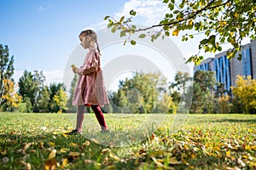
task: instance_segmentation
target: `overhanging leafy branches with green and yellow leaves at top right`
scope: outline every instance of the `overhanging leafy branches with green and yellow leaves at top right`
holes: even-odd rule
[[[140,27],[132,25],[132,19],[137,14],[130,11],[129,16],[121,16],[120,19],[106,16],[108,27],[112,32],[119,31],[120,37],[128,35],[132,45],[136,41],[131,39],[131,34],[141,32],[141,38],[150,37],[154,41],[158,37],[177,36],[181,33],[182,41],[188,41],[199,34],[199,50],[214,53],[221,51],[221,45],[228,42],[233,48],[227,52],[229,59],[241,51],[241,40],[244,37],[256,38],[256,2],[255,0],[164,0],[168,11],[163,14],[162,20],[153,26]],[[160,28],[160,31],[150,31],[152,28]],[[146,32],[147,31],[147,32]],[[195,33],[190,33],[190,32]],[[125,41],[126,42],[126,41]],[[241,53],[239,54],[241,59]],[[198,64],[203,56],[192,55],[188,62]]]

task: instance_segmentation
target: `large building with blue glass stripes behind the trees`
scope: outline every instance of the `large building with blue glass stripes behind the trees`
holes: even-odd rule
[[[241,60],[237,59],[239,53],[234,59],[228,59],[226,52],[203,60],[194,67],[194,71],[215,71],[217,82],[224,84],[224,89],[228,91],[230,87],[236,86],[237,75],[256,78],[256,40],[241,47]]]

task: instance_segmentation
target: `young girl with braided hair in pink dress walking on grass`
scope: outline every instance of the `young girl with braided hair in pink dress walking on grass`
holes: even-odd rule
[[[73,72],[79,75],[76,89],[73,96],[73,105],[77,105],[77,122],[76,128],[70,133],[81,133],[82,123],[84,120],[85,106],[91,107],[96,115],[96,119],[102,127],[102,132],[108,131],[107,124],[100,105],[108,105],[108,95],[104,88],[100,49],[96,38],[95,31],[85,30],[79,35],[81,46],[88,48],[89,52],[84,59],[84,65],[77,68],[72,65]],[[95,48],[96,45],[96,48]]]

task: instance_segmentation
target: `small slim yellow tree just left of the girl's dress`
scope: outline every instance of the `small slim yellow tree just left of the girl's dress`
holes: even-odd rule
[[[59,107],[58,113],[62,113],[67,110],[67,94],[61,86],[57,93],[54,95],[53,100],[56,102],[56,105]]]

